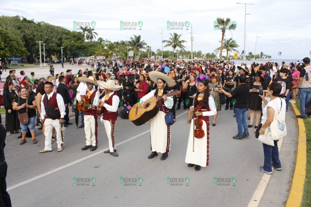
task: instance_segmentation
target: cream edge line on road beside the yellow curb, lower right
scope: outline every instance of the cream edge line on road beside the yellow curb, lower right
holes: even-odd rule
[[[281,150],[282,143],[283,143],[283,138],[280,139],[279,143],[278,143],[279,153]],[[273,168],[272,168],[272,173],[273,173]],[[262,198],[262,195],[266,190],[266,187],[267,187],[267,184],[269,182],[270,177],[271,177],[271,175],[268,175],[267,173],[263,173],[263,176],[262,176],[262,178],[261,178],[261,180],[257,186],[257,189],[254,192],[253,197],[251,198],[251,200],[248,203],[248,207],[257,207],[258,206],[258,204]]]

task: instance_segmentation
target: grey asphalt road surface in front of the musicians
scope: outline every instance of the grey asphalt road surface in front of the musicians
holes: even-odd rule
[[[44,147],[41,131],[37,132],[36,145],[30,138],[19,145],[15,135],[8,135],[5,156],[12,205],[247,206],[263,175],[258,170],[263,165],[262,143],[253,133],[245,140],[232,139],[237,132],[235,118],[232,111],[223,110],[216,127],[210,129],[210,165],[195,172],[184,162],[190,130],[185,112],[177,111],[177,121],[171,128],[171,151],[165,161],[160,156],[147,159],[151,153],[149,124],[136,127],[122,119],[118,119],[115,131],[119,157],[103,153],[108,139],[102,124],[94,152],[80,149],[85,145],[84,130],[73,125],[65,131],[64,150],[60,153],[56,144],[52,145],[53,152],[39,153]],[[295,165],[297,124],[291,109],[286,116],[288,135],[280,151],[282,171],[273,171],[259,206],[284,206],[287,200]],[[84,180],[89,186],[74,186],[73,177],[96,177],[96,181],[94,186],[90,180]],[[120,177],[136,185],[120,186]],[[142,177],[141,186],[138,177]],[[167,186],[167,177],[177,181],[188,177],[188,186]],[[214,186],[214,177],[236,177],[236,182],[234,186],[232,182],[229,186]]]

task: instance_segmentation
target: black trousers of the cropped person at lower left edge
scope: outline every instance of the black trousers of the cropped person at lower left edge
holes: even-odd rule
[[[9,193],[7,192],[7,182],[5,178],[7,177],[7,163],[3,163],[0,165],[0,187],[1,187],[1,195],[0,195],[0,206],[12,206],[11,198]]]

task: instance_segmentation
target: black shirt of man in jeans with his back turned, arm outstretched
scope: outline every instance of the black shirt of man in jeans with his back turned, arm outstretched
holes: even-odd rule
[[[230,93],[232,97],[236,100],[234,108],[247,108],[249,85],[240,84]]]

